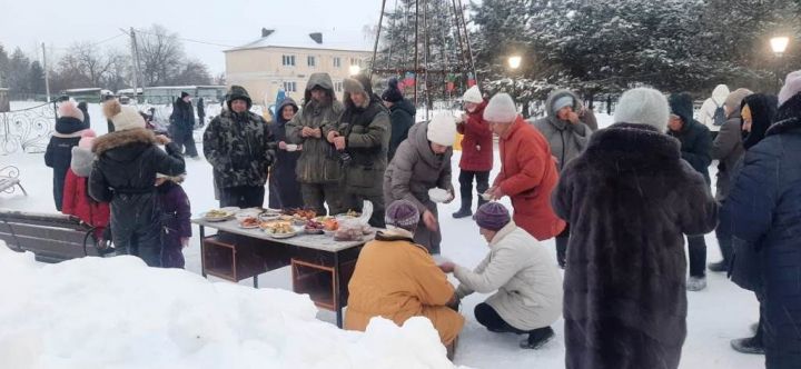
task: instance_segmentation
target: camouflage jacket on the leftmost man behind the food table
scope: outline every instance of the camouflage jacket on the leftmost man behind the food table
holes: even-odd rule
[[[267,122],[250,111],[222,111],[204,132],[204,154],[218,188],[264,186],[276,142]]]

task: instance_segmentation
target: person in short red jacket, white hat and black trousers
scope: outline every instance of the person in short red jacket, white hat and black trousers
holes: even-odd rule
[[[482,195],[490,189],[490,171],[493,166],[493,139],[490,123],[484,120],[486,101],[473,86],[462,96],[466,113],[456,121],[456,130],[462,137],[462,158],[459,158],[459,195],[462,206],[453,217],[465,218],[473,215],[473,178],[476,181],[478,207],[486,200]],[[476,207],[476,209],[478,208]]]

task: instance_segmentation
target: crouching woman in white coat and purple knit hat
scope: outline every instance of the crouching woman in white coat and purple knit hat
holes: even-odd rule
[[[444,262],[461,285],[456,296],[490,293],[475,307],[476,320],[493,332],[528,333],[524,349],[537,349],[554,337],[551,329],[562,316],[562,277],[547,250],[512,221],[498,202],[487,202],[475,215],[479,232],[490,242],[490,253],[475,270]]]

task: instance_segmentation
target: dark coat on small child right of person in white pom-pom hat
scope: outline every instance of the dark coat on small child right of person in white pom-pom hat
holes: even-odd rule
[[[161,258],[165,268],[184,268],[181,238],[191,237],[191,207],[180,184],[167,180],[156,188],[161,210],[161,248],[169,256]]]

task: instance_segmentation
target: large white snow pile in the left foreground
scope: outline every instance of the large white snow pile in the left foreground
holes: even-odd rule
[[[134,257],[41,265],[0,242],[7,368],[453,368],[431,322],[365,333],[315,319],[307,296],[212,283]]]

